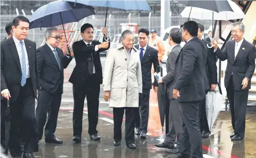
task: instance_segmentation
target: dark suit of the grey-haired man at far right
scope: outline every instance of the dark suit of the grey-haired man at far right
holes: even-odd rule
[[[251,78],[255,70],[255,47],[243,40],[235,57],[235,41],[227,41],[223,51],[217,48],[215,54],[221,61],[227,60],[224,84],[230,102],[232,126],[234,133],[244,138],[245,113]],[[232,74],[233,73],[233,74]],[[249,79],[248,86],[242,90],[244,77]]]

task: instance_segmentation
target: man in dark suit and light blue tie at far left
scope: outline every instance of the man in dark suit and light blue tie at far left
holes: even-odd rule
[[[29,19],[22,15],[15,17],[12,38],[1,42],[1,95],[10,100],[9,149],[13,157],[21,157],[21,136],[24,141],[25,158],[34,157],[33,152],[38,152],[34,111],[39,73],[36,45],[26,39],[29,23]]]

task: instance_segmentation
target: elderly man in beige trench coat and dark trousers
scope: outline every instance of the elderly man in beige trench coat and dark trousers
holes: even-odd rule
[[[107,53],[103,76],[104,99],[113,107],[114,145],[121,145],[125,110],[125,142],[130,149],[136,149],[134,114],[139,108],[139,93],[142,93],[140,56],[133,47],[134,42],[133,33],[125,30],[122,43]]]

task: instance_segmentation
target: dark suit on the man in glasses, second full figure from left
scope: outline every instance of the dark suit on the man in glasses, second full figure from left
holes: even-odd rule
[[[72,57],[63,54],[60,48],[56,48],[60,60],[60,67],[57,63],[53,51],[45,43],[36,50],[38,59],[38,70],[40,75],[40,89],[38,91],[38,106],[36,106],[35,116],[38,125],[38,139],[43,136],[45,139],[53,139],[57,126],[58,113],[63,93],[63,68],[67,68]],[[47,119],[48,118],[48,119]]]

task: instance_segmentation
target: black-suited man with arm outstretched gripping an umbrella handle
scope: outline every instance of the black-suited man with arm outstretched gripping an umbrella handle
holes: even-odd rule
[[[69,82],[73,84],[73,141],[76,143],[81,142],[85,97],[87,98],[90,139],[100,140],[96,130],[99,110],[99,86],[103,82],[99,53],[108,50],[110,46],[107,28],[103,28],[103,34],[105,35],[103,43],[93,40],[94,27],[92,24],[84,24],[80,31],[83,40],[72,45],[76,66],[69,78]]]

